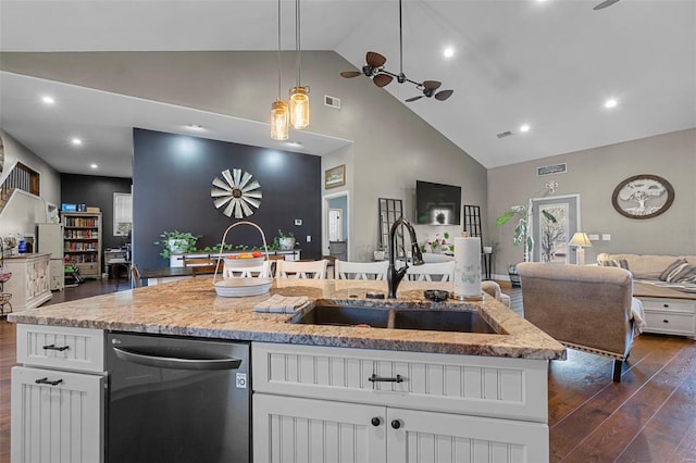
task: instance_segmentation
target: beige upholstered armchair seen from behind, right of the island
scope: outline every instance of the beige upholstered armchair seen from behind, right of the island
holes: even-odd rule
[[[634,323],[643,321],[641,302],[633,298],[631,273],[619,267],[535,262],[517,268],[524,317],[568,348],[613,359],[613,380],[620,383],[622,363],[633,345]]]

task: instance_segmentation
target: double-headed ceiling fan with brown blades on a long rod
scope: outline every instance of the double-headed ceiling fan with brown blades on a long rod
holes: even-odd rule
[[[403,74],[403,27],[401,21],[401,0],[399,0],[399,74],[395,74],[384,67],[384,64],[387,62],[387,59],[384,55],[376,51],[368,51],[365,55],[365,65],[362,66],[362,72],[344,71],[340,75],[345,78],[351,78],[364,74],[380,88],[389,85],[395,77],[399,84],[403,84],[406,82],[413,84],[417,89],[423,92],[423,95],[409,98],[406,100],[407,102],[415,101],[423,97],[435,97],[436,100],[445,101],[455,92],[455,90],[440,90],[436,92],[436,90],[443,85],[442,83],[437,80],[424,80],[420,83],[411,80],[406,76],[406,74]]]

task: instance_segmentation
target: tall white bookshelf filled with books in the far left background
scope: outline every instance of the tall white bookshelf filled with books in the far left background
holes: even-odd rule
[[[101,278],[101,213],[63,212],[62,217],[65,264],[82,278]]]

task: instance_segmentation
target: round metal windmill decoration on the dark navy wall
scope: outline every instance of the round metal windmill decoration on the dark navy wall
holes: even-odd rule
[[[261,205],[263,197],[259,188],[261,185],[252,180],[253,176],[241,168],[233,168],[222,172],[222,178],[215,177],[210,196],[216,209],[228,217],[244,218],[253,214],[254,209]]]

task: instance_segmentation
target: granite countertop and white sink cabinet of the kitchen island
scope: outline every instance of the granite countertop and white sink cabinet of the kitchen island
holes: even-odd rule
[[[492,298],[423,297],[424,289],[450,285],[405,281],[397,300],[374,300],[365,295],[386,292],[385,281],[276,279],[271,293],[306,296],[310,305],[476,311],[496,334],[291,324],[291,314],[253,311],[269,295],[221,298],[206,277],[9,320],[42,330],[86,330],[96,336],[97,356],[108,348],[98,336],[103,330],[250,341],[257,462],[290,452],[300,455],[297,461],[319,454],[327,462],[445,462],[460,461],[462,453],[470,461],[548,460],[547,365],[564,358],[563,347]]]

